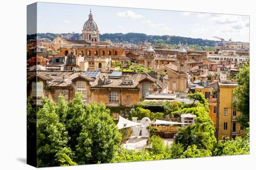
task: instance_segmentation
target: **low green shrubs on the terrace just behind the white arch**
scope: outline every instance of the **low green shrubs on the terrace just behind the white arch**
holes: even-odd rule
[[[144,117],[148,117],[150,120],[154,120],[157,118],[162,118],[163,113],[157,112],[157,113],[152,113],[148,109],[144,109],[142,107],[136,107],[135,111],[132,113],[133,117],[137,117],[138,120],[141,120]]]

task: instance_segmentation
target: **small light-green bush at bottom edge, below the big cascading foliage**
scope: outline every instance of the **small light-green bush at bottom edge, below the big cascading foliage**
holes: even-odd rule
[[[181,158],[189,157],[210,157],[211,151],[205,149],[197,149],[196,145],[191,145],[186,151],[183,152]]]

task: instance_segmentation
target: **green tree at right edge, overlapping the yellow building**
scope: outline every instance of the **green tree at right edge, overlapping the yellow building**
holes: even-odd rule
[[[238,87],[235,89],[235,96],[237,101],[235,105],[237,106],[237,111],[240,115],[237,117],[237,120],[241,125],[249,127],[249,83],[250,83],[250,68],[249,68],[249,58],[248,62],[243,63],[242,67],[239,69],[238,74]]]

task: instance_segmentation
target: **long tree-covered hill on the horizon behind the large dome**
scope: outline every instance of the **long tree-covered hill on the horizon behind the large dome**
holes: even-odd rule
[[[63,38],[67,39],[74,39],[78,40],[81,39],[80,33],[61,33],[61,34],[54,34],[54,33],[38,33],[38,38],[47,38],[49,40],[53,40],[58,36],[62,36]],[[35,36],[34,36],[35,37]],[[27,38],[33,38],[33,35],[27,35]],[[214,47],[216,43],[219,45],[222,44],[221,41],[214,41],[214,40],[207,40],[202,38],[188,38],[188,37],[179,37],[179,36],[156,36],[156,35],[147,35],[143,33],[106,33],[100,34],[101,40],[111,40],[114,43],[133,43],[133,44],[144,44],[144,42],[150,42],[152,44],[179,44],[179,42],[189,45],[191,44],[198,44],[199,46],[211,46]]]

